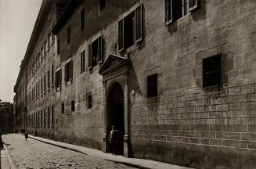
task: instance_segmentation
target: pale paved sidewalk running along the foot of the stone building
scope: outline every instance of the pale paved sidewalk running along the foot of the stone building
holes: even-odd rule
[[[67,144],[64,142],[56,142],[56,141],[49,140],[46,138],[34,137],[33,135],[29,135],[29,138],[33,138],[35,140],[38,140],[40,142],[45,142],[45,143],[51,144],[53,146],[59,146],[64,149],[70,149],[70,150],[73,150],[73,151],[76,151],[79,153],[85,153],[89,156],[96,156],[96,157],[102,158],[104,160],[110,160],[115,163],[126,164],[131,167],[139,167],[139,168],[144,168],[144,169],[189,169],[190,168],[190,167],[181,167],[181,166],[177,166],[177,165],[161,163],[161,162],[154,161],[154,160],[127,158],[124,156],[113,156],[110,153],[103,153],[102,151],[99,151],[97,149],[89,149],[89,148],[86,148],[83,146],[71,145],[71,144]]]

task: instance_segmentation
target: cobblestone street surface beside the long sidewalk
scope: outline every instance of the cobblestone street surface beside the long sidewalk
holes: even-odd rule
[[[102,160],[95,156],[76,153],[68,149],[51,146],[22,135],[3,135],[13,163],[17,168],[133,168],[123,164]]]

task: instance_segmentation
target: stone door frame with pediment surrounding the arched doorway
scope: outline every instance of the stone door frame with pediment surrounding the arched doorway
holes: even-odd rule
[[[104,99],[103,99],[103,115],[104,115],[104,134],[103,134],[103,151],[107,152],[108,147],[108,109],[107,98],[111,86],[117,82],[121,85],[124,92],[124,156],[129,156],[130,145],[130,115],[128,110],[128,63],[130,59],[121,56],[110,55],[103,66],[99,70],[99,74],[103,75]]]

